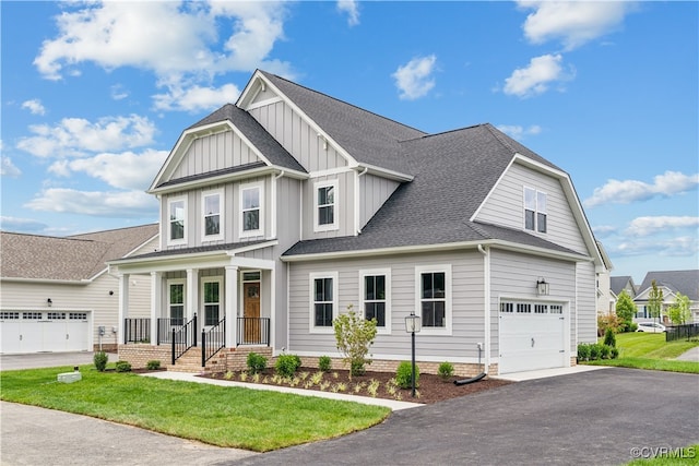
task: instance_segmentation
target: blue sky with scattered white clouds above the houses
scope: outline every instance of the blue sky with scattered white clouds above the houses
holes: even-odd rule
[[[260,68],[427,132],[490,122],[570,174],[637,283],[699,267],[697,2],[12,2],[3,230],[155,222],[180,132]]]

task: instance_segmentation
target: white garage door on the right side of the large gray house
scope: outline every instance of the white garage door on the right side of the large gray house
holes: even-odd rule
[[[566,367],[566,319],[558,303],[500,303],[499,372]]]

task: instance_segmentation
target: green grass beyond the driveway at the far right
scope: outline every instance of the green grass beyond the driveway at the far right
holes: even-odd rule
[[[600,338],[600,342],[603,340],[604,338]],[[675,360],[688,349],[699,346],[699,339],[696,338],[689,342],[686,339],[665,342],[664,333],[631,332],[616,335],[616,346],[619,348],[619,357],[617,359],[603,359],[584,363],[699,373],[699,362]]]

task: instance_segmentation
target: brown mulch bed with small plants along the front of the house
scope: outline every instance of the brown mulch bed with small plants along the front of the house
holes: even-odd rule
[[[313,373],[318,372],[316,368],[300,368],[296,373],[297,375],[307,372],[308,381]],[[229,373],[226,378],[225,373],[214,372],[214,373],[205,373],[199,377],[209,378],[209,379],[217,379],[217,380],[230,380],[235,382],[249,382],[254,383],[250,375],[247,379],[240,380],[240,372]],[[279,378],[274,379],[274,370],[268,368],[264,372],[260,374],[259,381],[257,383],[265,383],[268,385],[280,385],[280,386],[292,386],[288,381],[280,380]],[[323,374],[323,381],[327,382],[323,391],[325,392],[337,392],[344,394],[352,395],[360,395],[360,396],[375,396],[377,398],[387,398],[387,399],[401,399],[403,402],[416,402],[416,403],[437,403],[442,402],[445,399],[457,398],[459,396],[465,396],[471,393],[482,392],[484,390],[497,389],[502,385],[507,385],[511,382],[505,380],[497,379],[482,379],[478,382],[470,383],[466,385],[455,385],[453,382],[455,380],[464,379],[452,377],[447,381],[442,380],[440,377],[429,373],[419,374],[419,381],[417,386],[417,397],[413,398],[411,396],[411,389],[395,389],[393,393],[389,392],[389,381],[395,378],[394,373],[391,372],[369,372],[367,371],[364,375],[353,377],[350,379],[350,371],[347,370],[332,370]],[[467,379],[467,378],[465,378]],[[379,382],[379,387],[376,392],[376,395],[372,395],[368,390],[371,381]],[[339,386],[344,384],[344,390],[339,390]],[[306,385],[306,386],[305,386]],[[310,385],[306,384],[304,381],[297,383],[295,385],[296,389],[306,389],[306,390],[317,390],[320,391],[321,387],[319,385]],[[359,389],[357,389],[357,386]]]

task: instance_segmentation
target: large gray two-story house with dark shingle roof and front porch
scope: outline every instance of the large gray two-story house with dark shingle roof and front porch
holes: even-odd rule
[[[109,262],[134,367],[339,363],[350,306],[377,320],[374,370],[410,359],[412,312],[424,372],[567,367],[596,339],[606,270],[570,176],[487,123],[427,134],[258,70],[183,130],[149,192],[157,252]],[[128,331],[132,274],[152,278],[147,335]]]

